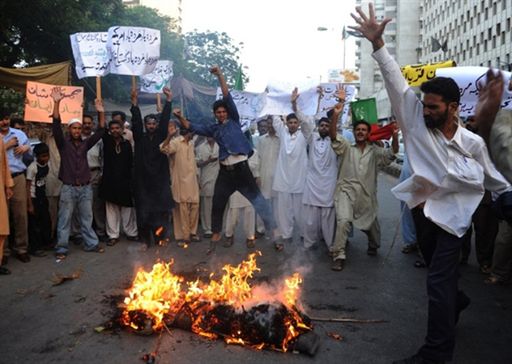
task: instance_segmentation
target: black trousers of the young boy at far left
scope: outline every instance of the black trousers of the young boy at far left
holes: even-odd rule
[[[28,250],[33,253],[52,246],[52,223],[48,200],[32,199],[34,213],[28,214]]]

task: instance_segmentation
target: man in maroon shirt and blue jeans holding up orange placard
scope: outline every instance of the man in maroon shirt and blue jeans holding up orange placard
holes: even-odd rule
[[[87,163],[87,152],[105,133],[105,111],[101,100],[95,101],[98,111],[98,130],[87,139],[82,139],[82,121],[68,121],[68,135],[62,132],[60,120],[60,103],[65,95],[60,87],[52,89],[53,98],[53,137],[60,153],[59,179],[62,181],[59,200],[59,217],[57,222],[57,259],[66,258],[69,250],[69,232],[73,211],[78,212],[80,232],[84,241],[84,250],[103,253],[98,244],[98,237],[92,228],[92,187],[91,171]],[[64,101],[65,102],[65,101]]]

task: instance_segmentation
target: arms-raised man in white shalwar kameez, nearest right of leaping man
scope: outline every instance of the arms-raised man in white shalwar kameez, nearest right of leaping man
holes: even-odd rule
[[[297,102],[298,96],[297,89],[294,89],[292,105]],[[302,228],[302,192],[308,163],[307,139],[313,127],[304,123],[299,130],[299,120],[295,114],[286,117],[286,125],[274,116],[272,126],[281,141],[272,189],[277,192],[277,226],[283,239],[281,242],[276,241],[275,248],[282,250],[284,242],[292,242],[294,223]]]

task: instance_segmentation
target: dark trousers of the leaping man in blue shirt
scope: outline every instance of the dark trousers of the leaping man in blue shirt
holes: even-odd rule
[[[265,229],[275,229],[270,203],[265,200],[252,175],[247,161],[239,162],[231,166],[220,165],[219,175],[215,181],[212,201],[212,232],[222,231],[222,218],[229,197],[233,192],[240,192],[254,206],[256,213],[260,215]]]

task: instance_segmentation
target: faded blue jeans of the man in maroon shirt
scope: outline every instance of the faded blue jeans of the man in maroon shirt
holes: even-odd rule
[[[57,253],[67,254],[69,250],[71,218],[75,209],[77,210],[77,216],[80,222],[80,232],[84,241],[84,250],[94,250],[98,246],[98,237],[92,228],[92,187],[90,185],[63,185],[59,200]]]

